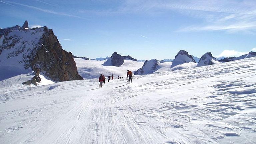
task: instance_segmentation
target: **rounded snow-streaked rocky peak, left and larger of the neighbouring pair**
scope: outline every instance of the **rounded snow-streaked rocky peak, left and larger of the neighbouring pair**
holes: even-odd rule
[[[188,54],[187,51],[180,50],[178,54],[175,56],[175,59],[172,61],[171,68],[188,62],[196,63],[196,61],[193,59],[191,55]]]

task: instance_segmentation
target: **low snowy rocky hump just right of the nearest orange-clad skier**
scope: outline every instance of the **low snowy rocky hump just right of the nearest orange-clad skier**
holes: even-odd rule
[[[156,59],[152,59],[149,61],[146,60],[143,64],[143,66],[134,72],[134,75],[151,74],[151,73],[157,71],[161,67],[159,64],[160,64],[160,62]]]

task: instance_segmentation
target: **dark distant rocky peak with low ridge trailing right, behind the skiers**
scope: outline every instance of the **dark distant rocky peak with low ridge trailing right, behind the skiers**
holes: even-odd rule
[[[121,56],[119,54],[117,54],[117,52],[114,52],[112,54],[112,56],[110,58],[108,58],[108,60],[103,64],[104,66],[121,66],[124,63],[124,60],[133,60],[133,61],[137,61],[137,59],[132,58],[131,56]]]

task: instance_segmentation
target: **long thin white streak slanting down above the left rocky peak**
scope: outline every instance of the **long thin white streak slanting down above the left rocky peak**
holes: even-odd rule
[[[79,19],[86,19],[86,18],[82,18],[80,16],[76,16],[76,15],[72,15],[72,14],[66,14],[66,13],[62,13],[62,12],[56,12],[56,11],[47,10],[47,9],[42,9],[42,8],[31,6],[31,5],[25,5],[25,4],[10,2],[10,1],[8,1],[8,2],[12,3],[12,4],[15,4],[15,5],[20,5],[20,6],[28,7],[28,8],[31,8],[31,9],[38,10],[38,11],[42,11],[42,12],[45,12],[45,13],[61,15],[61,16],[68,16],[68,17],[75,17],[75,18],[79,18]]]

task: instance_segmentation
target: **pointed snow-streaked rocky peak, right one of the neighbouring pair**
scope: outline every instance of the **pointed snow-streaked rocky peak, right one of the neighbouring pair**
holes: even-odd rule
[[[197,66],[219,64],[220,62],[210,52],[205,53],[199,60]]]

